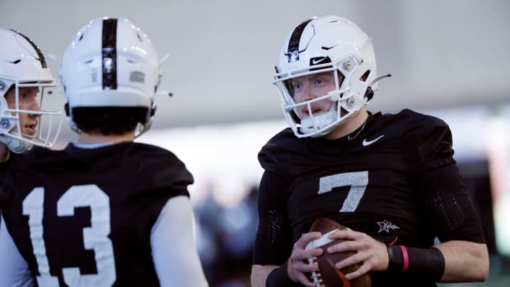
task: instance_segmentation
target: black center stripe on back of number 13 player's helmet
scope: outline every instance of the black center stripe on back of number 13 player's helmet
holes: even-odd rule
[[[117,19],[103,19],[103,90],[117,89]]]

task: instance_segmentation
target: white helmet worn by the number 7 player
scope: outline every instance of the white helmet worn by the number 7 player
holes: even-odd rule
[[[290,80],[329,71],[334,74],[336,89],[295,103]],[[377,77],[373,45],[363,30],[346,18],[318,16],[300,23],[285,40],[273,84],[295,135],[322,137],[367,105],[381,78]],[[333,102],[330,111],[314,115],[311,104],[324,99]],[[309,116],[301,118],[297,111],[303,108]]]

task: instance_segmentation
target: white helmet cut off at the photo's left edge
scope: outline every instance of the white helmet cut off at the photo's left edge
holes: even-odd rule
[[[9,150],[22,153],[33,145],[52,147],[55,144],[62,124],[62,112],[22,110],[19,97],[20,88],[37,87],[39,106],[42,106],[42,98],[48,88],[55,86],[55,79],[39,47],[15,30],[0,28],[0,142],[4,142]],[[11,87],[15,93],[15,105],[9,107],[5,96]],[[21,133],[20,117],[23,114],[38,116],[34,135]]]

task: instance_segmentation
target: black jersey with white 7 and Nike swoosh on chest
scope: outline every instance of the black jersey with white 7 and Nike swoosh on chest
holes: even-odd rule
[[[263,146],[259,162],[265,171],[254,264],[283,264],[319,217],[387,244],[428,248],[435,237],[485,242],[453,159],[450,129],[438,118],[409,110],[370,114],[338,140],[298,139],[288,128]],[[373,273],[373,283],[435,285],[382,272]]]

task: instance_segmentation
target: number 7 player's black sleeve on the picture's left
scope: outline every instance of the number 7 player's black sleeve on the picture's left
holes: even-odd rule
[[[259,186],[259,228],[254,264],[281,265],[292,251],[292,231],[287,217],[288,184],[281,176],[265,171]]]

